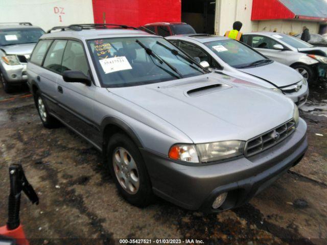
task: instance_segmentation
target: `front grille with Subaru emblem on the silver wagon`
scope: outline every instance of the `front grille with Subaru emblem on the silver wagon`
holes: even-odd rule
[[[246,157],[263,152],[281,142],[295,131],[295,121],[291,119],[268,132],[248,140],[245,144]]]

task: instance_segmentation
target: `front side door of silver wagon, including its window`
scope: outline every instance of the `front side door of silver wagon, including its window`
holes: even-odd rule
[[[81,71],[90,77],[89,66],[82,42],[68,40],[62,58],[61,75],[57,79],[57,95],[62,106],[61,115],[64,121],[85,136],[98,144],[100,142],[99,126],[94,118],[94,94],[96,86],[87,86],[82,83],[68,83],[62,78],[66,70]]]

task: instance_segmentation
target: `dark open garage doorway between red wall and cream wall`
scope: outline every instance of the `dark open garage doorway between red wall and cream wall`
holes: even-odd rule
[[[215,33],[216,0],[182,0],[182,22],[197,33]]]

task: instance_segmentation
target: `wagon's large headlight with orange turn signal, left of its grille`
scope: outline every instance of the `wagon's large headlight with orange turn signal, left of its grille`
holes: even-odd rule
[[[196,145],[173,145],[169,157],[192,163],[205,163],[240,156],[244,153],[244,141],[228,140]]]

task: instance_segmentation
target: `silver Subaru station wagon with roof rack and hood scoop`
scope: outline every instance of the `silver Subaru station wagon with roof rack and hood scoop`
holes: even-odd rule
[[[80,24],[43,35],[28,84],[47,128],[95,146],[131,204],[240,206],[299,162],[307,125],[282,94],[209,72],[166,39]]]

